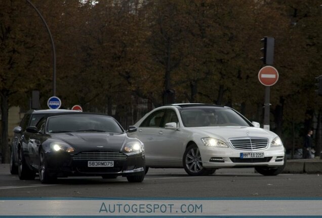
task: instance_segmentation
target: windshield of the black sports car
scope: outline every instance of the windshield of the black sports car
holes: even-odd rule
[[[47,132],[113,132],[123,133],[117,122],[102,115],[61,115],[48,118]]]

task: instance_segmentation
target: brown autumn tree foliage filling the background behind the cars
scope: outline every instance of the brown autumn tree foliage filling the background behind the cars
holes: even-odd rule
[[[56,44],[62,107],[79,104],[127,128],[162,105],[171,89],[176,102],[228,105],[262,123],[260,39],[272,36],[279,80],[271,87],[271,129],[287,147],[301,147],[304,131],[313,127],[320,150],[322,97],[314,91],[322,74],[319,0],[32,2]],[[27,110],[33,89],[46,108],[52,70],[50,38],[37,14],[23,0],[1,1],[2,111],[6,102]]]

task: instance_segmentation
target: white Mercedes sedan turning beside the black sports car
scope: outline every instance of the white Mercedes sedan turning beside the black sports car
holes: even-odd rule
[[[259,128],[227,106],[172,104],[155,108],[128,135],[145,146],[148,168],[184,168],[191,176],[219,168],[253,167],[262,175],[277,175],[285,167],[279,137]]]

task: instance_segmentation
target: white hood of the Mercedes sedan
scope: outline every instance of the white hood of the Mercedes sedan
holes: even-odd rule
[[[207,135],[209,137],[216,137],[221,140],[228,141],[229,138],[237,137],[264,137],[268,140],[277,135],[271,131],[256,128],[256,127],[240,127],[240,126],[226,126],[226,127],[190,127],[194,132]]]

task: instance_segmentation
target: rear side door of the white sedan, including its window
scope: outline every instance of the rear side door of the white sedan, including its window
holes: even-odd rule
[[[165,109],[150,114],[134,135],[144,143],[146,166],[163,166],[164,156],[159,152],[159,147],[165,143],[164,135],[160,134],[165,114]]]

